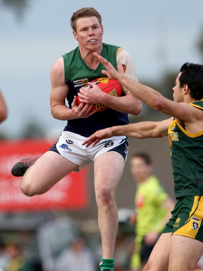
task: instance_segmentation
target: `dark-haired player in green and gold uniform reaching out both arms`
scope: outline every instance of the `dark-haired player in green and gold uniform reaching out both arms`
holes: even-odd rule
[[[151,108],[172,117],[161,122],[106,128],[83,144],[94,146],[100,139],[116,134],[134,138],[169,135],[177,203],[143,270],[194,270],[203,253],[203,65],[182,65],[173,88],[174,101],[171,101],[117,73],[108,61],[94,55],[107,70],[103,74],[118,80]]]

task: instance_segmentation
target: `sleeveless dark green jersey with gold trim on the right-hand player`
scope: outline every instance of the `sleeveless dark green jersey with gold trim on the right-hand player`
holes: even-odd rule
[[[203,99],[190,104],[203,109]],[[203,195],[203,130],[188,133],[174,119],[168,135],[176,198]]]

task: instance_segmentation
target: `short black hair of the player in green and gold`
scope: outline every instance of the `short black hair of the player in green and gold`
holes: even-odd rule
[[[203,98],[203,65],[186,62],[180,69],[180,86],[190,88],[190,96],[195,100]]]

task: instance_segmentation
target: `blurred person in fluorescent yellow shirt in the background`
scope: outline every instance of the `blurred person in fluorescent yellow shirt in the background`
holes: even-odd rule
[[[135,153],[131,158],[131,173],[136,181],[136,212],[130,222],[135,223],[135,252],[131,257],[131,271],[142,271],[162,230],[171,217],[174,203],[160,181],[152,175],[153,165],[147,153]]]

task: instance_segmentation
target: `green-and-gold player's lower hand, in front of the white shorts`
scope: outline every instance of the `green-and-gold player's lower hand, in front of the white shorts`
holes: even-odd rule
[[[87,138],[82,145],[87,144],[85,147],[89,147],[89,145],[91,145],[92,143],[92,147],[94,147],[101,139],[104,138],[110,138],[113,136],[113,130],[112,128],[106,128],[106,129],[102,129],[99,130],[95,133],[93,133],[89,138]]]

